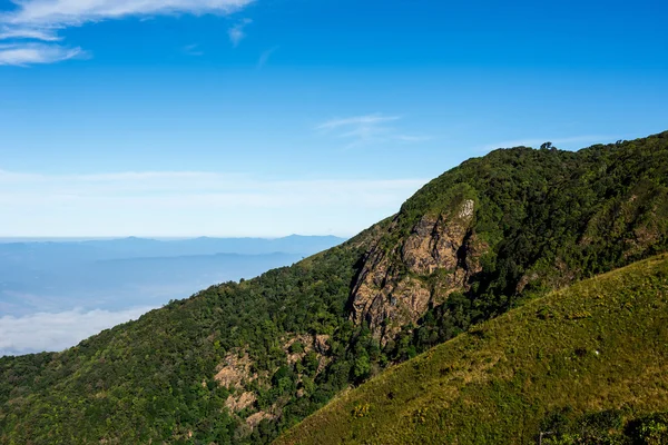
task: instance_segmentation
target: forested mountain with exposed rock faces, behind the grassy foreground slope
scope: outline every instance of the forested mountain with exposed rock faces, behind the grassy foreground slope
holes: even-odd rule
[[[392,364],[668,250],[668,132],[495,150],[292,267],[0,359],[0,444],[269,443]]]

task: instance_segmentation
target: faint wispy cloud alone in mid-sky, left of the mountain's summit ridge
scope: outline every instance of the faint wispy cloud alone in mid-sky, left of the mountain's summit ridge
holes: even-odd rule
[[[385,116],[382,113],[354,116],[324,121],[315,129],[347,139],[346,148],[390,141],[420,142],[430,139],[428,136],[403,134],[396,126],[396,121],[401,119],[401,116]]]

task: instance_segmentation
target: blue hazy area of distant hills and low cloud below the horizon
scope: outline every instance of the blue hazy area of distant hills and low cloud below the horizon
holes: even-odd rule
[[[288,266],[343,240],[1,239],[0,356],[73,346],[170,299]]]

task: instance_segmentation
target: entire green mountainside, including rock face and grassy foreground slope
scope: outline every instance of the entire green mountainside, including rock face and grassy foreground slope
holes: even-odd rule
[[[494,150],[291,267],[0,358],[0,444],[667,444],[667,251],[668,132]]]

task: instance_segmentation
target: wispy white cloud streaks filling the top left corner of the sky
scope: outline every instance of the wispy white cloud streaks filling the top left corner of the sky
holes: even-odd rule
[[[6,55],[4,65],[52,63],[71,59],[71,55],[56,44],[26,40],[55,42],[61,40],[58,31],[106,20],[137,17],[139,19],[165,14],[206,13],[229,14],[242,10],[254,0],[11,0],[12,11],[0,13],[0,40],[10,40],[14,47]],[[243,27],[239,29],[243,38]],[[50,50],[48,50],[50,48]],[[6,51],[7,52],[7,51]],[[37,52],[37,55],[36,55]],[[18,56],[12,56],[18,55]],[[32,55],[32,56],[29,56]],[[56,56],[59,55],[59,56]],[[13,62],[17,60],[17,62]],[[35,61],[33,61],[35,60]]]

